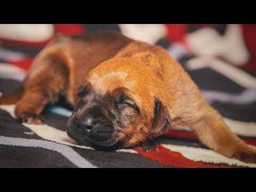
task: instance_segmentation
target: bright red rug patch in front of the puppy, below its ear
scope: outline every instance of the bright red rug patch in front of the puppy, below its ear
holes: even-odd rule
[[[226,168],[230,166],[225,165],[205,165],[201,162],[191,161],[184,157],[181,153],[166,149],[162,145],[157,145],[158,151],[143,151],[139,148],[134,149],[143,157],[146,157],[152,161],[162,163],[164,165],[175,166],[175,167],[193,167],[193,168]]]

